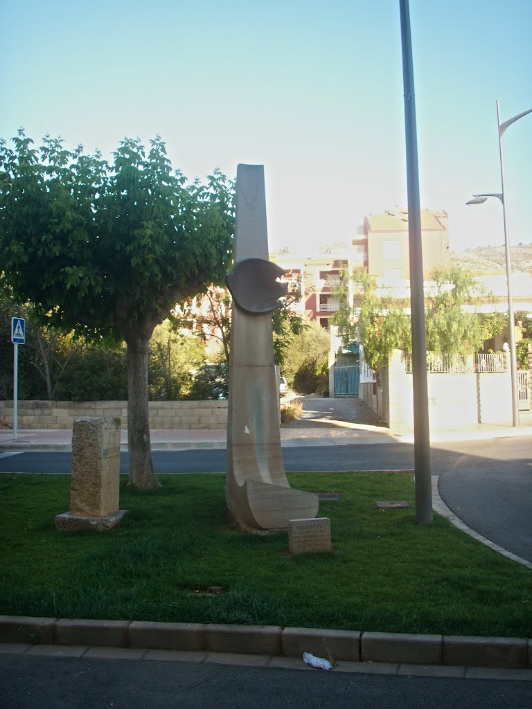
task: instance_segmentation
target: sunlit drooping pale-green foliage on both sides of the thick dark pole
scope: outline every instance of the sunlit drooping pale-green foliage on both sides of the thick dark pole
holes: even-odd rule
[[[349,283],[348,276],[344,277]],[[360,336],[367,364],[377,372],[387,363],[392,350],[411,353],[410,301],[397,297],[392,289],[377,286],[365,273],[353,272],[350,286],[338,292],[340,306],[334,323],[347,345]],[[468,354],[482,349],[484,340],[500,333],[505,317],[501,313],[476,313],[475,305],[489,294],[482,291],[475,277],[458,266],[439,269],[426,284],[426,347],[438,354]],[[469,308],[469,309],[466,309]]]

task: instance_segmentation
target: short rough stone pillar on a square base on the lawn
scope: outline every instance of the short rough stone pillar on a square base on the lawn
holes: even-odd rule
[[[70,510],[55,517],[58,530],[109,530],[126,514],[118,509],[120,425],[120,418],[74,420]]]

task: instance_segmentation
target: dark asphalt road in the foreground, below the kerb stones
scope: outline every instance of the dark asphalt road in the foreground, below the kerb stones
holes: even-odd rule
[[[516,709],[532,682],[0,655],[10,709]]]

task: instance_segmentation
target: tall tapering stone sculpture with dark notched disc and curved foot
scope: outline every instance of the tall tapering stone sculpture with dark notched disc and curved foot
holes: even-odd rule
[[[288,527],[314,518],[318,496],[289,486],[279,435],[271,312],[287,284],[268,260],[262,165],[238,165],[235,266],[227,284],[233,295],[227,428],[227,506],[251,528]]]

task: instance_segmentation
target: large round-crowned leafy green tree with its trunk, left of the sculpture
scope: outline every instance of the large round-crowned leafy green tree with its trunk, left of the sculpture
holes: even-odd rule
[[[155,325],[219,282],[231,259],[233,193],[218,170],[186,185],[157,136],[125,138],[113,162],[23,130],[0,141],[0,256],[7,284],[65,332],[125,340],[130,484],[157,485],[148,425]]]

